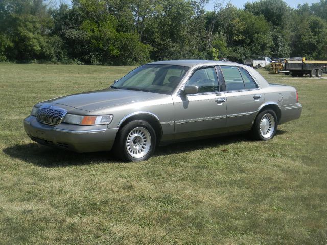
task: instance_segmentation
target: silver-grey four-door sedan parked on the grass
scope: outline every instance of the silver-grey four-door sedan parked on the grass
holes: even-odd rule
[[[269,140],[301,110],[295,88],[251,67],[173,60],[139,66],[108,89],[37,103],[24,128],[44,145],[142,161],[157,145],[199,137],[249,131]]]

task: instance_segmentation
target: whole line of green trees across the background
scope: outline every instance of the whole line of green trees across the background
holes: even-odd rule
[[[327,0],[0,0],[0,61],[134,65],[305,56],[327,60]]]

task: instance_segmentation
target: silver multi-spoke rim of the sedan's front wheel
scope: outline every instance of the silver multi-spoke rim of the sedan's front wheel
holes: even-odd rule
[[[129,132],[126,139],[126,149],[130,156],[144,157],[150,150],[151,136],[147,129],[137,127]]]

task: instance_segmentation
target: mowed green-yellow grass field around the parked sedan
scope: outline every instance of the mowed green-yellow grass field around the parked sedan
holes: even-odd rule
[[[327,79],[262,75],[299,91],[299,120],[116,161],[32,142],[39,101],[103,89],[133,67],[0,64],[0,244],[326,244]]]

